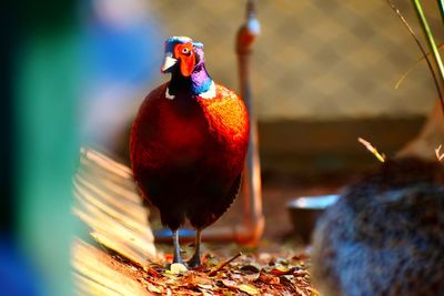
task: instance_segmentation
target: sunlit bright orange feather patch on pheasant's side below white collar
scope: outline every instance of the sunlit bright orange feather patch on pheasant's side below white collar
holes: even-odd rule
[[[216,98],[199,98],[210,131],[233,149],[249,141],[249,113],[244,102],[231,90],[216,84]]]

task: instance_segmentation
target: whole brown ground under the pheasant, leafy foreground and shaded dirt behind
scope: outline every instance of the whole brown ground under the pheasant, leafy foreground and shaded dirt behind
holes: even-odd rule
[[[352,176],[335,175],[314,180],[268,177],[263,182],[263,208],[266,220],[261,243],[255,248],[236,244],[204,244],[202,268],[174,274],[165,268],[171,261],[171,245],[157,244],[164,262],[137,266],[121,256],[93,248],[94,257],[127,278],[123,288],[135,295],[319,295],[311,285],[310,256],[306,245],[292,232],[286,203],[296,196],[337,193]],[[152,210],[150,221],[160,225],[159,213]],[[233,225],[242,217],[242,197],[215,224]],[[182,245],[190,256],[191,245]],[[235,256],[215,275],[211,272]],[[125,293],[125,292],[123,292]]]

